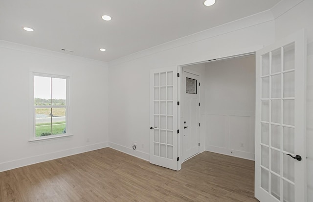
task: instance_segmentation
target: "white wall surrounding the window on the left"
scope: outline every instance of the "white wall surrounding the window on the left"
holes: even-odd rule
[[[28,142],[31,71],[70,76],[73,136]],[[106,147],[107,64],[0,41],[0,106],[0,172]]]

